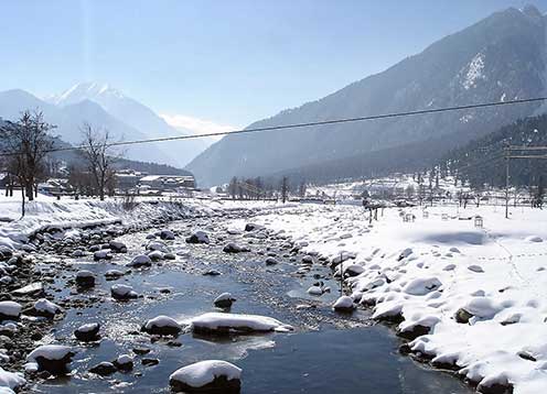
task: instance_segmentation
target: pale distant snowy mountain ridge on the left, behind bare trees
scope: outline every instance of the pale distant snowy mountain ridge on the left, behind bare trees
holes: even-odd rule
[[[24,90],[0,92],[0,117],[15,120],[21,111],[42,110],[45,120],[56,125],[55,133],[77,144],[84,122],[108,129],[116,141],[133,141],[185,135],[172,128],[147,106],[106,84],[77,84],[57,96],[40,99]],[[200,140],[131,145],[128,158],[183,167],[206,147]]]

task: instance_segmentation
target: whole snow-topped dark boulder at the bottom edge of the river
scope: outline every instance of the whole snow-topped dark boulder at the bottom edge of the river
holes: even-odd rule
[[[239,393],[242,370],[226,361],[206,360],[183,366],[169,376],[175,392]]]

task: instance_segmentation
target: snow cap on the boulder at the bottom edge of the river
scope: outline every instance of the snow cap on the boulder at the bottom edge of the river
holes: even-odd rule
[[[242,377],[242,370],[227,361],[206,360],[174,371],[169,376],[169,380],[199,388],[212,383],[219,376],[225,376],[228,381],[239,380]]]

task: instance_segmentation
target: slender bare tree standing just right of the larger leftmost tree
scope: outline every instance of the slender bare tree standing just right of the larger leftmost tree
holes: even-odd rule
[[[81,130],[83,135],[81,152],[103,201],[106,189],[112,191],[109,182],[114,178],[114,163],[121,154],[111,149],[114,141],[107,129],[94,129],[89,123],[84,123]]]

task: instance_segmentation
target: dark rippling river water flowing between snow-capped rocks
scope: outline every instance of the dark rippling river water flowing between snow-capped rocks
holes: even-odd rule
[[[210,222],[210,228],[222,228],[222,219]],[[211,227],[213,226],[213,227]],[[184,221],[169,226],[186,232],[192,223]],[[221,359],[243,369],[243,393],[470,393],[453,376],[429,370],[397,352],[400,344],[392,331],[375,326],[369,314],[358,310],[351,316],[331,310],[337,297],[339,285],[330,278],[330,270],[314,264],[301,276],[298,262],[290,261],[281,249],[282,240],[243,238],[218,231],[211,245],[190,245],[184,237],[168,244],[176,253],[176,261],[164,261],[152,269],[133,270],[117,281],[107,282],[104,273],[110,269],[126,270],[131,256],[142,253],[146,233],[132,233],[119,240],[128,245],[128,254],[118,254],[110,262],[95,263],[90,259],[73,261],[74,270],[96,273],[94,289],[77,293],[66,282],[72,273],[54,284],[56,297],[97,299],[93,305],[66,311],[45,341],[72,343],[78,347],[73,373],[64,379],[36,384],[42,393],[164,393],[169,392],[169,375],[189,363]],[[223,238],[219,240],[219,238]],[[229,240],[249,244],[253,253],[227,254],[222,251]],[[270,250],[267,250],[270,248]],[[280,262],[266,266],[265,255],[276,253]],[[285,256],[283,256],[285,255]],[[297,259],[299,260],[299,259]],[[205,276],[203,272],[217,270],[219,276]],[[305,289],[322,280],[332,293],[321,297],[309,296]],[[131,285],[143,298],[116,302],[109,297],[115,283]],[[169,293],[165,293],[169,289]],[[223,292],[237,298],[232,313],[257,314],[277,318],[292,325],[291,333],[234,336],[223,338],[199,337],[183,333],[172,343],[169,339],[151,342],[139,332],[147,319],[168,315],[185,320],[207,311],[218,311],[213,299]],[[101,324],[100,344],[82,346],[72,332],[78,326]],[[150,353],[136,355],[132,349],[147,347]],[[90,366],[100,361],[112,361],[119,354],[135,355],[135,369],[129,373],[115,373],[107,377],[89,374]],[[159,364],[144,366],[142,358],[159,360]]]

